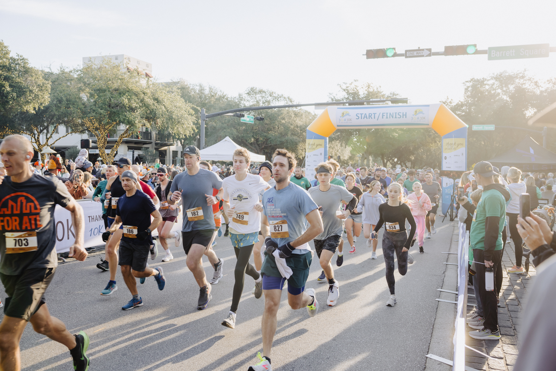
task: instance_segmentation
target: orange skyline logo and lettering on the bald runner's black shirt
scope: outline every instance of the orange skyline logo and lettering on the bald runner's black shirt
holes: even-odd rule
[[[0,215],[10,215],[0,216],[0,230],[36,230],[42,227],[40,212],[41,206],[33,196],[25,192],[12,193],[0,201]]]

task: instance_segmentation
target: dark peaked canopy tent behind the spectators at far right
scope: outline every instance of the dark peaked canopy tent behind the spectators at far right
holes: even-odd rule
[[[523,171],[556,170],[556,154],[526,136],[511,150],[489,160],[497,167],[515,166]]]

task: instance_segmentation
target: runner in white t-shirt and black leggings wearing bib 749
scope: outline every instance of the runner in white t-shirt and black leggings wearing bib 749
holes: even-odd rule
[[[232,306],[227,318],[222,321],[222,325],[231,329],[235,328],[237,305],[243,293],[246,273],[255,280],[255,298],[259,299],[262,295],[261,275],[249,264],[249,259],[253,245],[259,241],[261,229],[262,205],[259,203],[259,192],[270,189],[262,177],[247,173],[251,156],[245,148],[236,149],[232,161],[236,174],[222,181],[224,212],[231,218],[230,240],[237,259]]]

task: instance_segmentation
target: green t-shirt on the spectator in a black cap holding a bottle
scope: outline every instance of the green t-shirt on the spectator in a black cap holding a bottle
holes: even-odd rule
[[[485,222],[487,216],[500,217],[498,239],[494,250],[502,250],[502,231],[506,220],[506,199],[495,189],[483,191],[483,195],[477,204],[470,231],[471,248],[473,249],[485,249]]]

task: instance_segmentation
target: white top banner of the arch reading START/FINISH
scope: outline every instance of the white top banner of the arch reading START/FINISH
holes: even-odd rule
[[[334,110],[331,118],[337,128],[392,128],[431,127],[436,110],[429,108],[430,105],[387,105],[330,107],[329,110]]]

